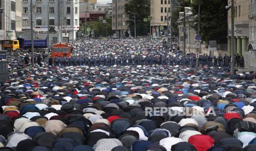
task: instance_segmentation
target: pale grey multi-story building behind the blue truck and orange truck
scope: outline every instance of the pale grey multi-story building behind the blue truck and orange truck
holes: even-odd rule
[[[23,38],[31,38],[30,9],[30,1],[23,0],[21,33]],[[79,30],[79,1],[32,0],[32,18],[34,38],[46,38],[49,24],[50,44],[68,42],[77,37]]]

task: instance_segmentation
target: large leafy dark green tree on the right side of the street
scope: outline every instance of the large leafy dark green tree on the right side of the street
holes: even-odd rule
[[[217,43],[226,43],[227,10],[224,0],[200,0],[200,35],[208,43],[217,40]],[[193,13],[198,14],[198,0],[192,3]],[[197,27],[196,27],[197,28]]]

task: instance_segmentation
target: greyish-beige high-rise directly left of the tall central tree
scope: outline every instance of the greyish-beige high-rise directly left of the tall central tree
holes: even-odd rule
[[[112,30],[115,30],[115,38],[122,38],[128,33],[127,20],[129,16],[125,13],[124,8],[124,5],[128,2],[129,0],[112,1]]]

